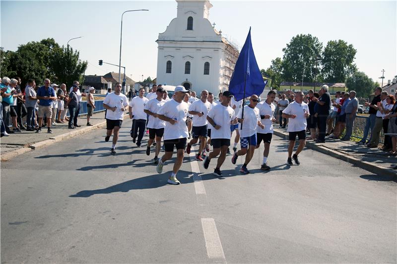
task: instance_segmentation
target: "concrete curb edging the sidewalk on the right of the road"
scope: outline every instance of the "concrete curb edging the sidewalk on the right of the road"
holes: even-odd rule
[[[284,139],[288,138],[288,134],[287,133],[282,133],[279,131],[274,130],[274,135],[282,137]],[[333,158],[338,158],[341,159],[343,161],[349,162],[357,167],[363,168],[365,170],[368,170],[372,173],[375,174],[379,174],[381,176],[392,176],[392,177],[397,177],[397,172],[396,170],[393,169],[389,169],[386,167],[382,167],[382,166],[378,166],[377,164],[374,164],[372,162],[368,162],[368,161],[363,161],[361,159],[358,158],[354,158],[351,157],[349,155],[340,153],[338,151],[335,150],[331,150],[327,147],[321,146],[321,145],[317,145],[316,143],[313,142],[307,142],[306,141],[306,147],[308,147],[309,149],[321,152],[323,154],[329,155]]]

